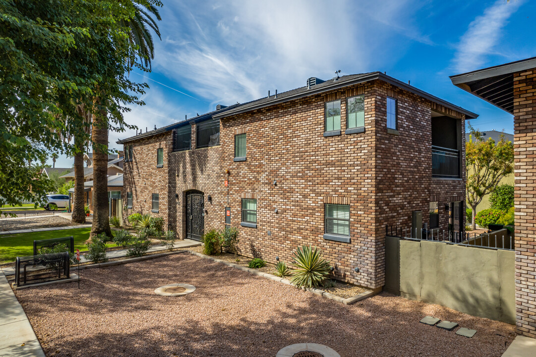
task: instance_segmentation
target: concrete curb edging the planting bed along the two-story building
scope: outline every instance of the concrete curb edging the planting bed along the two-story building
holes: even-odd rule
[[[263,272],[260,272],[258,270],[250,269],[250,268],[242,266],[242,265],[222,261],[221,259],[214,258],[214,257],[211,257],[209,255],[204,255],[204,254],[198,253],[196,251],[188,250],[188,252],[190,254],[196,255],[196,256],[198,256],[200,258],[210,259],[211,261],[214,261],[216,263],[222,263],[222,264],[225,264],[227,266],[234,267],[235,269],[242,270],[242,271],[248,272],[250,274],[254,274],[254,275],[259,276],[259,277],[263,277],[263,278],[270,279],[270,280],[273,280],[273,281],[281,282],[282,284],[294,286],[294,284],[292,284],[292,282],[290,280],[285,279],[285,278],[279,278],[279,277],[276,277],[276,276],[274,276],[272,274],[269,274],[269,273],[263,273]],[[343,299],[340,296],[333,295],[331,293],[325,292],[325,291],[323,291],[321,289],[317,289],[317,288],[302,287],[301,289],[303,291],[308,291],[308,292],[311,292],[311,293],[316,294],[318,296],[322,296],[322,298],[331,299],[331,300],[340,302],[341,304],[345,304],[345,305],[353,304],[354,302],[358,302],[360,300],[370,298],[370,296],[374,296],[374,295],[379,294],[379,293],[382,292],[382,288],[377,288],[377,289],[374,289],[372,291],[367,291],[367,292],[364,292],[364,293],[361,293],[361,294],[358,294],[358,295],[351,296],[350,298]]]

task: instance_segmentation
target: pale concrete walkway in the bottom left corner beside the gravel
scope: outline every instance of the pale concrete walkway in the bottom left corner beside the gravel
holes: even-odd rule
[[[0,356],[44,357],[41,344],[8,280],[0,271]]]

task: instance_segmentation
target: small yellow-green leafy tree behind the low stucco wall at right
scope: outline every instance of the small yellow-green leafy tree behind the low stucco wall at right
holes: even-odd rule
[[[465,165],[467,170],[467,204],[471,206],[472,228],[475,229],[475,213],[482,198],[493,191],[505,175],[513,172],[513,144],[492,138],[484,141],[480,132],[469,125],[470,140],[465,143]]]

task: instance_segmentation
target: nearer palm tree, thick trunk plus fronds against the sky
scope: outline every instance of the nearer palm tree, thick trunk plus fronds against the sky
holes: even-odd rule
[[[145,66],[151,68],[154,59],[154,44],[150,28],[160,37],[158,25],[152,16],[161,20],[158,9],[152,4],[140,5],[132,2],[135,10],[133,18],[125,20],[124,27],[129,28],[129,41],[137,46],[138,55]],[[147,27],[148,26],[148,27]],[[94,107],[100,99],[95,98]],[[93,142],[93,223],[91,237],[106,233],[111,237],[108,217],[108,117],[105,111],[93,115],[91,131]]]

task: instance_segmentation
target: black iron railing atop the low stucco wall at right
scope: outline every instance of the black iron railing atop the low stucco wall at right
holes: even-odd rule
[[[419,232],[420,230],[420,232]],[[504,249],[514,250],[514,238],[512,234],[490,233],[466,233],[466,232],[450,232],[426,228],[398,228],[385,226],[386,235],[399,237],[405,240],[413,241],[434,241],[440,243],[457,244],[459,246],[489,248],[489,249]],[[419,235],[420,233],[420,235]]]

